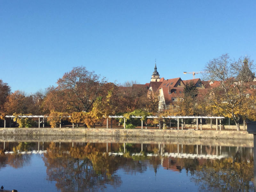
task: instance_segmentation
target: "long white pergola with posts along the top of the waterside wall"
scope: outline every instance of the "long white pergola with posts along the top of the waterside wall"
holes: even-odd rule
[[[5,117],[13,118],[15,116],[13,115],[6,115]],[[44,128],[44,115],[23,115],[18,116],[19,118],[38,118],[38,128],[40,128],[40,118],[43,118],[43,128]],[[71,117],[71,116],[66,116]],[[131,116],[131,118],[143,118],[144,116]],[[108,129],[108,118],[111,119],[111,128],[112,128],[112,118],[124,118],[124,129],[125,129],[125,120],[126,118],[124,116],[108,116],[107,117],[107,129]],[[146,118],[160,118],[159,116],[147,116]],[[220,120],[220,131],[221,131],[221,119],[224,119],[223,116],[161,116],[161,118],[168,118],[168,119],[175,119],[178,122],[177,129],[180,129],[180,119],[181,119],[181,130],[183,130],[183,121],[184,119],[196,119],[196,130],[198,130],[198,119],[200,119],[200,130],[202,130],[202,119],[211,119],[211,129],[212,129],[212,119],[216,119],[216,130],[218,130],[218,119]],[[4,119],[4,128],[6,126],[5,119]],[[61,128],[61,124],[60,124]],[[73,124],[74,128],[74,124]],[[147,129],[147,126],[145,127]],[[164,124],[165,128],[165,124]],[[141,120],[141,129],[143,129],[143,120]],[[159,129],[161,129],[161,124],[159,123]]]

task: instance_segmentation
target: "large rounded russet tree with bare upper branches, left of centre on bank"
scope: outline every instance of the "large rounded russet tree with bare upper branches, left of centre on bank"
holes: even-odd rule
[[[94,71],[85,67],[74,67],[57,81],[57,90],[66,100],[69,111],[89,112],[95,100],[103,93],[105,77],[101,78]]]

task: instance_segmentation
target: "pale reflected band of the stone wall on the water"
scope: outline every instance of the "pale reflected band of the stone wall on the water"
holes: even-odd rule
[[[250,139],[209,139],[177,137],[113,137],[113,136],[55,136],[55,135],[0,135],[0,142],[82,142],[82,143],[144,143],[204,146],[253,147]]]

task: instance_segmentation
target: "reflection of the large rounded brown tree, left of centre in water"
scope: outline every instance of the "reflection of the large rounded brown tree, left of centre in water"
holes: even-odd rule
[[[59,148],[51,143],[47,151],[43,159],[48,179],[57,181],[56,187],[61,191],[95,191],[103,190],[107,184],[121,184],[121,178],[114,174],[119,160],[103,155],[100,148],[87,144],[71,147],[67,154],[59,153]]]

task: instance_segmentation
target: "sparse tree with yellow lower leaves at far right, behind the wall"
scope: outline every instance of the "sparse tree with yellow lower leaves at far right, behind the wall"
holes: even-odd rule
[[[212,110],[209,113],[233,118],[238,131],[242,116],[253,107],[247,105],[250,98],[248,82],[255,78],[251,72],[252,64],[253,61],[248,58],[232,61],[228,54],[224,54],[205,66],[205,78],[219,82],[206,96],[206,107]]]

